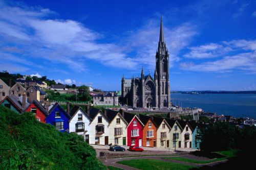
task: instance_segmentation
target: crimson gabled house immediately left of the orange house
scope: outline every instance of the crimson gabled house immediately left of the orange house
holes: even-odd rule
[[[142,147],[144,125],[135,114],[124,113],[123,117],[128,123],[126,127],[127,145],[134,147]]]

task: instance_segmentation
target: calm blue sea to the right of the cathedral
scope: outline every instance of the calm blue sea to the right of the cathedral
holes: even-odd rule
[[[197,107],[205,112],[256,119],[256,94],[183,94],[171,93],[176,106]]]

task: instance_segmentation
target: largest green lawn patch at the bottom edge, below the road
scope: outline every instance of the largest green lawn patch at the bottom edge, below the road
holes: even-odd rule
[[[119,161],[117,163],[135,167],[138,169],[145,170],[160,170],[160,169],[176,169],[176,170],[186,170],[190,168],[194,168],[196,166],[184,165],[180,163],[174,162],[165,162],[155,159],[133,159],[133,160],[125,160]]]

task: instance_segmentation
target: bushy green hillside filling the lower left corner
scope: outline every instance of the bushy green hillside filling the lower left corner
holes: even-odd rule
[[[4,169],[106,169],[82,137],[39,123],[30,112],[0,106],[0,139],[0,149],[13,149],[0,150]]]

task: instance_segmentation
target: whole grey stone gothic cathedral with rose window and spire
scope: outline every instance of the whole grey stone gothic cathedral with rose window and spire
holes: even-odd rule
[[[169,53],[164,41],[162,17],[154,78],[150,74],[145,76],[143,67],[140,78],[125,79],[123,76],[121,99],[123,104],[136,108],[172,106],[170,103]]]

